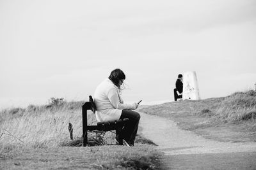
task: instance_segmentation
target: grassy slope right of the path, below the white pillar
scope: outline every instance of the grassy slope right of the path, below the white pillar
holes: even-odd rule
[[[141,112],[166,117],[181,129],[218,141],[256,141],[256,92],[227,97],[140,106]]]

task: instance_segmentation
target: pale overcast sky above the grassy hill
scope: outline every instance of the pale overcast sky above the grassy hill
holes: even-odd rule
[[[127,102],[173,101],[195,71],[201,99],[255,89],[256,1],[0,0],[0,108],[86,101],[109,73]]]

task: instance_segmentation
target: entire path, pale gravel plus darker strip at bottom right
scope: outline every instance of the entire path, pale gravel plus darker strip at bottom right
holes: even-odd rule
[[[223,143],[179,129],[170,119],[141,114],[141,134],[156,143],[164,152],[165,167],[173,169],[231,169],[237,162],[249,162],[242,169],[256,168],[256,143]],[[190,155],[190,156],[189,156]],[[203,160],[202,166],[198,160]],[[183,162],[180,162],[183,161]],[[184,167],[188,163],[188,167]],[[223,166],[220,166],[220,162]],[[168,163],[170,162],[170,163]],[[229,163],[227,163],[229,162]],[[241,164],[241,163],[240,163]],[[183,165],[183,166],[181,166]],[[193,166],[194,165],[194,166]],[[205,167],[206,166],[206,167]],[[168,169],[166,168],[166,169]]]

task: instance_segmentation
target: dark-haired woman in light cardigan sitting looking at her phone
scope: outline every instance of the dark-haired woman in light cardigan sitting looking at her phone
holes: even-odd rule
[[[124,72],[121,69],[115,69],[97,87],[94,93],[94,102],[97,107],[96,118],[98,122],[129,118],[124,128],[116,130],[116,141],[118,141],[118,145],[123,145],[124,139],[129,146],[134,146],[140,114],[133,110],[136,110],[139,104],[124,103],[120,95],[124,80]]]

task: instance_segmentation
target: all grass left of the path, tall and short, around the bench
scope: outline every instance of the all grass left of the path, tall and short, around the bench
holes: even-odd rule
[[[89,133],[90,147],[82,143],[83,102],[9,108],[0,111],[0,169],[154,169],[159,152],[151,141],[137,136],[134,147],[115,144],[107,132],[104,146]],[[73,126],[73,140],[68,131]],[[96,124],[88,112],[88,123]]]

